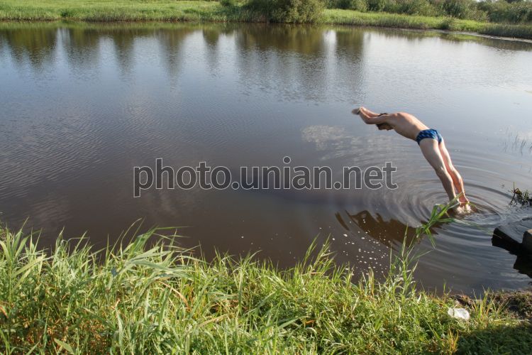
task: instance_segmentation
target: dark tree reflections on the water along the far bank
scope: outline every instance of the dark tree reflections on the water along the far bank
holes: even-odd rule
[[[162,28],[161,28],[162,27]],[[267,29],[267,31],[266,31]],[[35,70],[40,70],[56,60],[57,41],[73,67],[97,65],[101,42],[110,39],[115,48],[116,61],[123,72],[133,66],[135,39],[155,37],[165,55],[167,74],[175,77],[179,72],[179,48],[187,36],[200,32],[208,51],[210,67],[219,63],[218,43],[221,36],[231,38],[240,50],[238,65],[243,77],[260,77],[262,88],[272,84],[269,80],[282,80],[275,87],[290,87],[297,80],[298,85],[310,89],[305,99],[319,100],[318,93],[330,89],[326,85],[350,84],[358,87],[364,81],[362,52],[365,35],[374,33],[382,38],[400,38],[416,42],[439,38],[446,42],[475,42],[501,50],[531,50],[530,43],[522,41],[497,40],[472,35],[422,31],[379,31],[350,27],[331,27],[323,30],[319,26],[275,26],[256,25],[175,25],[160,26],[148,24],[130,25],[57,25],[31,24],[0,28],[0,39],[6,43],[11,58],[19,65],[28,61]],[[60,39],[58,39],[60,38]],[[268,54],[268,55],[267,55]],[[311,64],[297,65],[299,56],[311,56]],[[331,65],[332,64],[332,65]],[[274,70],[272,72],[272,70]],[[292,80],[292,81],[291,81]],[[290,94],[290,92],[287,92]]]

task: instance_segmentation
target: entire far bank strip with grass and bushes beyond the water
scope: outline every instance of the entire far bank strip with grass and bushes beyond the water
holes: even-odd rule
[[[531,1],[3,0],[0,21],[219,21],[472,31],[532,38]]]

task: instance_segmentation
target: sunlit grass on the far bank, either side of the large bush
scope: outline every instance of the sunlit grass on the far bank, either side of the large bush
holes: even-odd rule
[[[264,16],[245,7],[217,1],[171,0],[2,0],[0,21],[231,21],[259,22]],[[450,17],[362,13],[326,9],[319,23],[397,28],[472,31],[486,35],[531,38],[532,26],[504,25]]]

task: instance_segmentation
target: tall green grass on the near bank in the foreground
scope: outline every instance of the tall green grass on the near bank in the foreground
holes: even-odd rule
[[[419,236],[438,218],[433,212]],[[439,217],[438,217],[439,216]],[[530,323],[484,297],[469,321],[416,289],[404,247],[385,280],[355,280],[328,246],[278,270],[252,256],[206,262],[160,230],[91,251],[60,236],[46,253],[23,231],[0,229],[0,351],[112,353],[515,353]],[[155,244],[151,243],[155,239]],[[414,262],[412,262],[414,261]],[[357,276],[358,279],[358,276]]]

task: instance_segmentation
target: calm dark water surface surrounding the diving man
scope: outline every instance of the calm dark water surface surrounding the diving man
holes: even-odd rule
[[[492,246],[531,214],[532,44],[416,31],[265,25],[2,24],[0,219],[92,241],[135,219],[187,226],[185,246],[293,265],[318,235],[338,261],[387,268],[445,192],[413,141],[350,114],[409,111],[445,137],[478,214],[438,226],[427,288],[521,288],[530,265]],[[397,166],[397,190],[149,190],[133,167]],[[428,240],[421,246],[429,248]],[[516,263],[514,268],[514,263]]]

